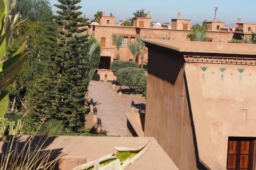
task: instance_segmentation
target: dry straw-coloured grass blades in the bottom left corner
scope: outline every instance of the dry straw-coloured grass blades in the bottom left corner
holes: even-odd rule
[[[21,140],[15,135],[8,138],[10,142],[4,143],[0,157],[0,166],[3,170],[56,169],[58,161],[63,156],[61,150],[45,149],[55,137],[36,137],[34,134],[26,140]]]

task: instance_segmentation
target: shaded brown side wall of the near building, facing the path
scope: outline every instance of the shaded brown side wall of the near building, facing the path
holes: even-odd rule
[[[145,136],[155,137],[179,169],[197,169],[183,57],[149,46]],[[184,96],[185,95],[185,96]]]

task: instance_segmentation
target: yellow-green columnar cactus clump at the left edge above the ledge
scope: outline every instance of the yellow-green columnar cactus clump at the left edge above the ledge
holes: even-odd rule
[[[19,119],[17,123],[15,121],[9,121],[8,118],[0,118],[0,134],[17,135],[22,134],[23,123]]]

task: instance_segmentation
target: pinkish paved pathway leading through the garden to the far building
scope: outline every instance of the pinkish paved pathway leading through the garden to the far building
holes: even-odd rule
[[[126,136],[127,119],[125,113],[131,111],[131,98],[118,97],[112,84],[100,81],[90,81],[88,86],[87,99],[93,98],[94,106],[97,107],[98,117],[101,118],[102,130],[107,135]],[[144,103],[141,100],[133,99],[135,104]]]

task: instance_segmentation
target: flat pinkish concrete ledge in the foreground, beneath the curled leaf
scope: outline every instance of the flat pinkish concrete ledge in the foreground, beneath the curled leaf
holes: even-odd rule
[[[7,138],[10,140],[12,136],[7,136]],[[15,137],[15,140],[19,141],[19,147],[23,148],[22,144],[29,138],[30,136],[22,135]],[[41,138],[46,137],[36,137],[33,143],[37,143]],[[151,137],[50,137],[49,141],[45,142],[43,150],[58,150],[56,153],[65,155],[59,160],[58,169],[72,169],[86,161],[90,162],[107,154],[114,154],[115,147],[138,148],[149,140],[152,143],[147,152],[126,170],[178,169],[156,139]],[[1,152],[8,148],[6,143],[1,142],[0,145]]]

